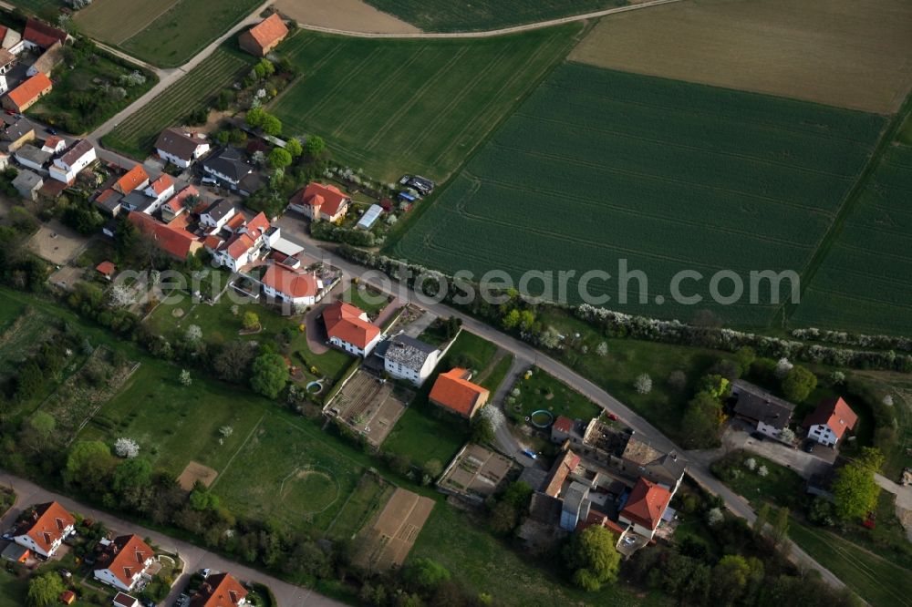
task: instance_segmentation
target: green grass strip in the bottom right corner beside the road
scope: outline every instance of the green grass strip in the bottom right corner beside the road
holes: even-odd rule
[[[871,605],[908,604],[912,596],[912,571],[835,533],[805,526],[798,520],[792,520],[789,537]]]

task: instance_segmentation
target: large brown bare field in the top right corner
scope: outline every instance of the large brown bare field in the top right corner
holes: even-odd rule
[[[706,0],[604,17],[570,59],[893,113],[912,84],[906,0]]]

